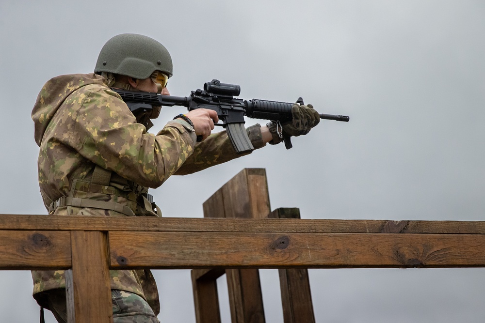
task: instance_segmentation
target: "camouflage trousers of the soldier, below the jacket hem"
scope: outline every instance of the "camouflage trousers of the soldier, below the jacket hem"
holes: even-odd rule
[[[65,289],[49,290],[44,293],[46,308],[52,311],[59,323],[67,322]],[[160,323],[146,300],[141,296],[120,290],[111,290],[114,323]]]

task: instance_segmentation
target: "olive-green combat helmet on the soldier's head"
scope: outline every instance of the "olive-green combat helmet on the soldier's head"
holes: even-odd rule
[[[145,79],[155,71],[172,76],[172,57],[153,38],[125,33],[116,35],[101,48],[94,72],[126,75]]]

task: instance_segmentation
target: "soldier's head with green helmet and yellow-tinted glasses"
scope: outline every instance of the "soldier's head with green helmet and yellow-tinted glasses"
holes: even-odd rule
[[[125,33],[116,35],[101,49],[95,73],[106,77],[111,87],[162,92],[173,74],[168,50],[153,38]]]

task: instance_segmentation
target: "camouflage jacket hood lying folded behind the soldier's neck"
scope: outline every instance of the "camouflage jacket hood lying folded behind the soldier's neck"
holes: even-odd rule
[[[61,75],[51,78],[42,88],[32,109],[34,138],[40,147],[44,132],[56,111],[74,91],[89,84],[106,85],[106,79],[94,73]]]

